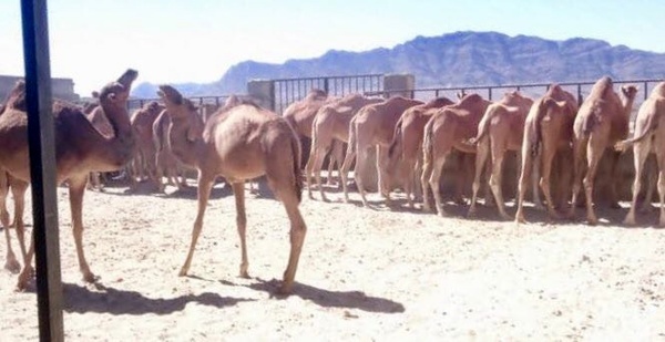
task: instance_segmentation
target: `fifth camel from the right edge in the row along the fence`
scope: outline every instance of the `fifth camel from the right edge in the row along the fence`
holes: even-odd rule
[[[446,216],[439,191],[443,164],[453,148],[463,153],[475,153],[475,147],[469,146],[468,141],[478,135],[478,124],[490,103],[478,94],[468,94],[459,103],[438,110],[426,124],[422,139],[423,167],[420,178],[424,211],[431,211],[429,199],[431,187],[437,213],[439,216]]]

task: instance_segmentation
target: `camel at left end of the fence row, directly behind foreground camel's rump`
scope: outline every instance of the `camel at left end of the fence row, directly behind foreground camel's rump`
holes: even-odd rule
[[[326,92],[318,89],[313,89],[303,100],[296,101],[288,105],[288,107],[284,110],[283,116],[296,131],[298,136],[300,136],[300,141],[303,141],[303,137],[311,139],[313,124],[316,113],[318,113],[318,110],[327,102],[334,100],[336,99],[328,97]],[[305,148],[305,142],[303,141],[301,143],[303,148]],[[330,160],[328,162],[328,185],[332,185],[332,168],[335,164],[337,163],[338,166],[340,166],[341,162],[344,162],[336,158],[344,153],[340,148],[341,144],[334,141],[334,153],[330,154]]]

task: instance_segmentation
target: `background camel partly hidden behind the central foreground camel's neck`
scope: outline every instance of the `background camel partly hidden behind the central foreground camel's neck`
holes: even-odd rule
[[[178,190],[187,186],[187,179],[184,175],[184,167],[171,151],[168,144],[168,126],[171,116],[166,110],[162,111],[152,125],[153,146],[155,148],[155,180],[157,190],[164,191],[164,179],[166,183],[177,187]]]

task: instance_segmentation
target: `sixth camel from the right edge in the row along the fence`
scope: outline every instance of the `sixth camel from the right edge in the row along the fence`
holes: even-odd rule
[[[413,195],[420,194],[420,175],[422,174],[422,134],[424,125],[432,114],[454,102],[447,97],[437,97],[428,103],[412,106],[405,111],[395,125],[395,133],[388,148],[389,177],[401,174],[402,187],[409,206],[413,207]],[[417,186],[418,184],[418,186]]]

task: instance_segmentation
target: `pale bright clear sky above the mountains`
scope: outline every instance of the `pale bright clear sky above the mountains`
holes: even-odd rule
[[[665,52],[662,0],[50,0],[51,73],[88,95],[126,68],[140,82],[212,82],[242,61],[391,48],[498,31]],[[19,0],[0,1],[0,74],[23,74]]]

